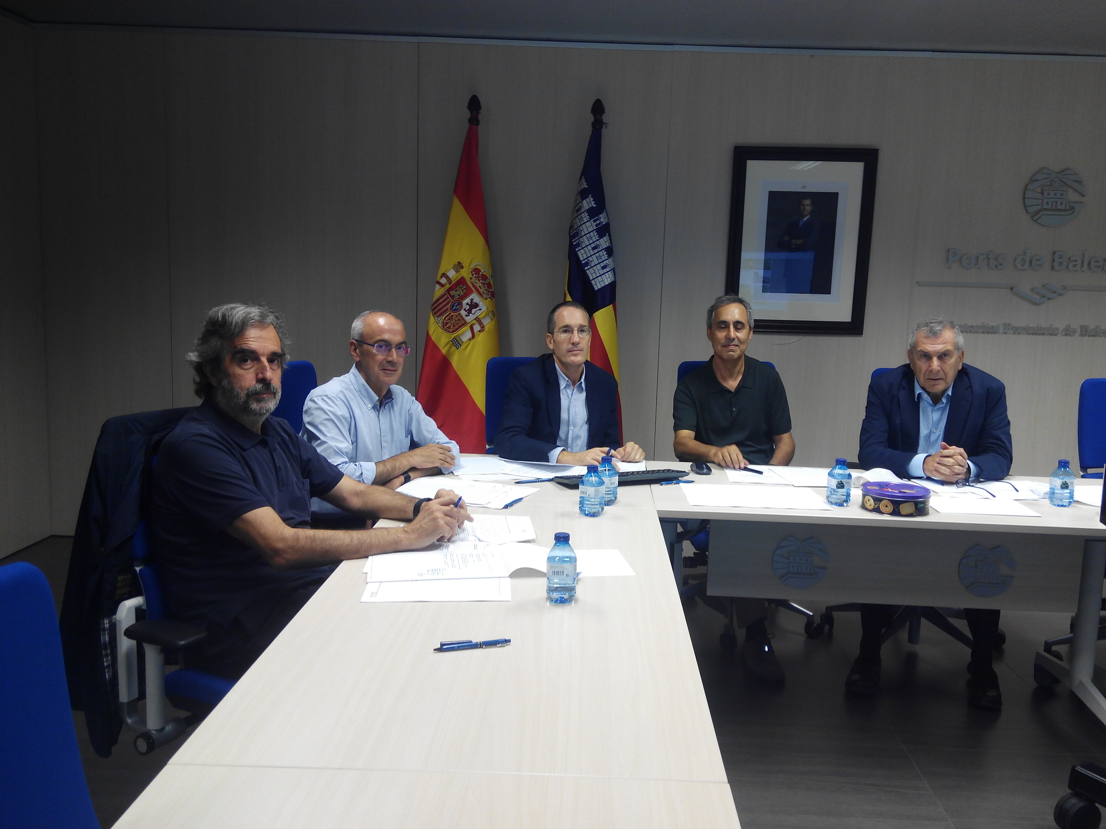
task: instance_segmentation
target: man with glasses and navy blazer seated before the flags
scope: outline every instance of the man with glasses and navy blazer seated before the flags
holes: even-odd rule
[[[549,314],[544,354],[514,369],[503,398],[495,451],[514,461],[598,463],[611,450],[636,462],[645,452],[618,439],[618,381],[587,359],[591,318],[577,302]]]

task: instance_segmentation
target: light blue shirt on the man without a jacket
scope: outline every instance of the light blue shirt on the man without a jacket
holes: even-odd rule
[[[461,453],[407,389],[392,386],[383,398],[377,398],[356,365],[307,395],[303,437],[349,478],[367,484],[376,480],[377,461],[411,447],[442,443],[458,458]],[[333,511],[319,499],[312,500],[312,508]]]

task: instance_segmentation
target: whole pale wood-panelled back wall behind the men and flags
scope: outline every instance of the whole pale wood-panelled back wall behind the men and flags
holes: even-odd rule
[[[855,458],[868,375],[904,360],[918,318],[1106,324],[1100,294],[1033,307],[915,284],[957,277],[947,245],[1106,253],[1103,62],[35,36],[46,307],[95,356],[72,370],[65,346],[50,346],[58,533],[72,528],[104,418],[194,400],[182,355],[211,305],[278,307],[293,356],[321,379],[346,370],[353,316],[389,308],[416,346],[403,379],[415,388],[472,93],[504,355],[543,348],[588,108],[606,104],[625,432],[650,457],[672,457],[676,366],[709,354],[702,315],[724,282],[734,144],[880,149],[865,335],[758,335],[751,347],[787,387],[796,463]],[[1041,166],[1087,182],[1070,225],[1040,228],[1021,207]],[[1075,458],[1078,382],[1104,374],[1104,349],[968,336],[969,361],[1008,385],[1015,472]]]

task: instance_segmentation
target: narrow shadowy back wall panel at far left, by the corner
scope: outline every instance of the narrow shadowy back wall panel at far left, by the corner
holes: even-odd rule
[[[165,41],[36,38],[52,524],[67,534],[101,423],[173,402]]]

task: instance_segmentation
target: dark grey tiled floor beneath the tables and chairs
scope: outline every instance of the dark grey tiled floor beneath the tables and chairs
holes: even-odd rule
[[[70,544],[48,538],[0,566],[36,565],[60,604]],[[779,690],[720,655],[721,616],[700,602],[686,615],[743,829],[1048,829],[1068,767],[1106,764],[1106,727],[1066,691],[1033,684],[1033,652],[1066,630],[1066,615],[1003,613],[1001,714],[966,705],[968,651],[928,625],[917,647],[905,633],[884,647],[883,693],[867,700],[843,692],[859,639],[855,613],[838,615],[832,637],[808,640],[797,616],[776,612],[770,628],[787,672]],[[75,722],[106,829],[179,743],[140,757],[125,731],[102,759],[82,715]]]

